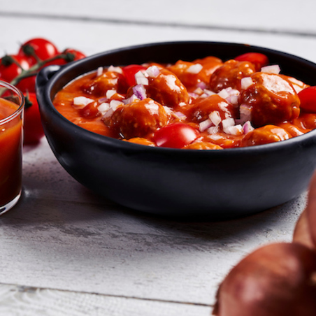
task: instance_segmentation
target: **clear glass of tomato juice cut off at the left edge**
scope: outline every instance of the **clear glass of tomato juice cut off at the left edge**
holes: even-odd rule
[[[22,194],[24,96],[0,80],[0,215]]]

